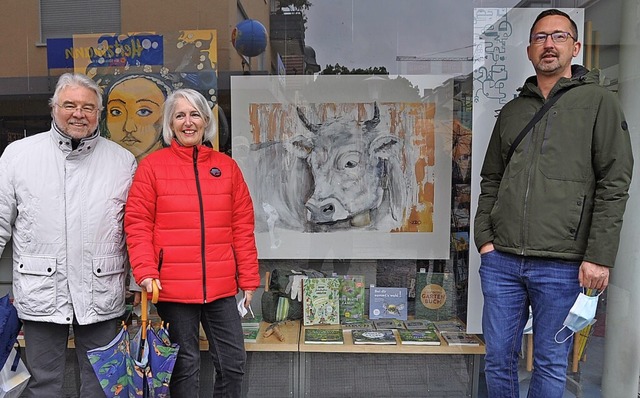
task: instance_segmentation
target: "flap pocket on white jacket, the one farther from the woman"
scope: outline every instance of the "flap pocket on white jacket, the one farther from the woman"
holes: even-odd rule
[[[56,310],[56,271],[55,257],[20,256],[18,273],[14,281],[16,306],[28,315],[49,315]]]

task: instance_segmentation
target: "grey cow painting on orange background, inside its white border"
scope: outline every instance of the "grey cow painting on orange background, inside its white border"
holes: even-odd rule
[[[429,139],[415,134],[428,107],[252,104],[250,113],[258,232],[432,230]]]

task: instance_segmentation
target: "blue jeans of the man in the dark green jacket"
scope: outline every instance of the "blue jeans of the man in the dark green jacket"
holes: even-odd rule
[[[523,257],[494,250],[482,256],[482,329],[487,344],[485,377],[491,398],[519,396],[518,354],[533,312],[530,398],[561,398],[573,339],[555,335],[580,293],[580,263]],[[558,341],[571,331],[563,330]]]

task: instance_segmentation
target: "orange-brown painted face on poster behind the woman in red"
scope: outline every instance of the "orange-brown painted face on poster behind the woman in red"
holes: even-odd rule
[[[158,83],[137,76],[116,83],[108,93],[106,125],[112,141],[140,160],[162,147],[162,105]]]

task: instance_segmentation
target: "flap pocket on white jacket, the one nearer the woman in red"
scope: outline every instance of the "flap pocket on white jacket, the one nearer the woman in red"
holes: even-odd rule
[[[91,292],[96,313],[108,315],[119,311],[124,306],[125,257],[95,257],[92,266]]]

